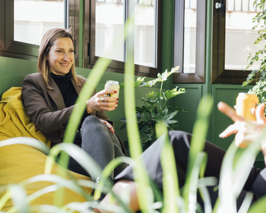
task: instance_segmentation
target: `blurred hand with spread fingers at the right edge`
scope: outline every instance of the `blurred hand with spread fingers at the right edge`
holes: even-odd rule
[[[251,110],[251,112],[256,116],[257,121],[250,121],[236,115],[235,110],[224,102],[220,102],[218,104],[218,109],[235,122],[234,124],[228,126],[228,128],[224,132],[222,132],[219,137],[225,138],[232,134],[236,134],[235,145],[238,147],[247,147],[249,143],[259,138],[264,128],[266,127],[264,103],[260,104],[256,110]],[[261,149],[266,154],[266,139],[262,142]]]

